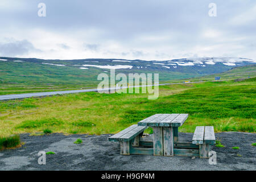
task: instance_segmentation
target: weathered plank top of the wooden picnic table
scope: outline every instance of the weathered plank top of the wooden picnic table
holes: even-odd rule
[[[188,114],[155,114],[138,122],[138,126],[180,127],[188,118]]]

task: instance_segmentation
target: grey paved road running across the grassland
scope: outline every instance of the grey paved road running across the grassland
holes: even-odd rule
[[[223,80],[222,80],[223,81]],[[206,81],[194,81],[194,82],[189,82],[189,83],[198,83],[198,82],[206,82]],[[159,85],[175,85],[175,84],[184,84],[184,82],[179,82],[179,83],[172,83],[172,84],[159,84]],[[152,86],[152,85],[142,85],[141,87],[144,86]],[[139,86],[133,86],[139,87]],[[127,88],[127,87],[124,87]],[[114,90],[114,88],[109,88],[109,89],[101,89],[103,90]],[[41,96],[52,96],[56,94],[67,94],[67,93],[80,93],[80,92],[97,92],[98,89],[81,89],[81,90],[65,90],[65,91],[55,91],[55,92],[37,92],[37,93],[23,93],[23,94],[10,94],[10,95],[3,95],[0,96],[0,100],[11,100],[15,98],[28,98],[28,97],[41,97]]]

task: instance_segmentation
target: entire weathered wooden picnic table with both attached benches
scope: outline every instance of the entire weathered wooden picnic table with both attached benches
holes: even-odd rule
[[[210,145],[215,143],[213,126],[197,126],[192,142],[180,142],[178,128],[188,114],[155,114],[109,137],[120,143],[120,154],[146,154],[162,156],[200,156],[209,158]],[[141,140],[147,127],[153,129],[153,141]]]

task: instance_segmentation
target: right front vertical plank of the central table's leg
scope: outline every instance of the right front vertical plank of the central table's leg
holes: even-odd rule
[[[174,133],[172,127],[163,127],[164,156],[174,156]]]

